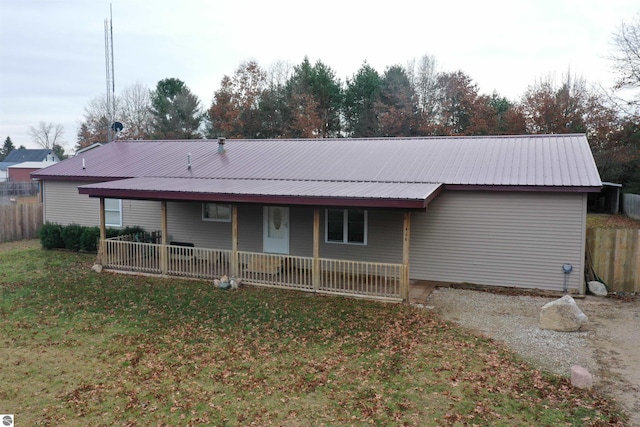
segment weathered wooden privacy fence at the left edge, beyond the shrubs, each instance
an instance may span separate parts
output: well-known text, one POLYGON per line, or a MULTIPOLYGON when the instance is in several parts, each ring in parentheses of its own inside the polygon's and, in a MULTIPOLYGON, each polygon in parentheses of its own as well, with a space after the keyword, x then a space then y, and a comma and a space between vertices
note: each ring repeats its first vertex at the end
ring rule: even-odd
POLYGON ((0 205, 0 242, 34 239, 42 226, 42 203, 0 205))

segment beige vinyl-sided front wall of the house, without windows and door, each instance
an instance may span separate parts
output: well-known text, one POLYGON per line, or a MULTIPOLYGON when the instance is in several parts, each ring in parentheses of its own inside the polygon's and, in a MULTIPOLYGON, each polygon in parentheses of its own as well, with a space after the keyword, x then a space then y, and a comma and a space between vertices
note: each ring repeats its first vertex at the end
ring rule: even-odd
MULTIPOLYGON (((99 201, 78 194, 78 183, 47 181, 44 219, 94 226, 99 201)), ((587 197, 584 193, 444 191, 425 211, 411 214, 412 279, 561 291, 583 289, 587 197)), ((160 229, 160 202, 123 200, 123 225, 160 229)), ((238 207, 238 248, 262 252, 261 205, 238 207)), ((313 208, 293 206, 290 254, 313 254, 313 208)), ((230 222, 202 220, 200 202, 167 204, 168 240, 231 249, 230 222)), ((402 262, 403 211, 368 211, 367 245, 326 243, 320 209, 320 256, 402 262)))

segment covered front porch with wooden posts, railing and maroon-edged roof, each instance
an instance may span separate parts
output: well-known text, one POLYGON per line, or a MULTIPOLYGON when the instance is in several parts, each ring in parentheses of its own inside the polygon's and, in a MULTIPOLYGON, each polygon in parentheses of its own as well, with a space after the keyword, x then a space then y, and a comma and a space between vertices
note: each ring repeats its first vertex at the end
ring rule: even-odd
MULTIPOLYGON (((183 180, 181 180, 183 181, 183 180)), ((172 183, 175 185, 175 183, 172 183)), ((227 190, 229 183, 225 183, 227 190)), ((184 194, 175 193, 157 188, 158 183, 145 184, 135 180, 123 180, 109 183, 93 184, 80 187, 80 193, 89 194, 100 198, 100 246, 98 262, 104 268, 144 274, 157 274, 162 276, 190 277, 197 279, 215 279, 222 275, 228 275, 240 279, 242 283, 270 286, 286 289, 296 289, 314 293, 345 295, 367 299, 385 301, 409 301, 409 271, 410 271, 410 236, 411 236, 411 211, 416 208, 423 209, 426 204, 439 192, 439 185, 416 186, 419 197, 407 199, 406 196, 398 198, 389 197, 359 197, 357 199, 344 197, 304 198, 287 195, 256 195, 238 194, 236 190, 232 194, 218 193, 184 194), (128 182, 127 182, 128 181, 128 182), (134 182, 132 182, 134 181, 134 182), (124 182, 124 185, 122 184, 124 182), (153 186, 153 188, 139 188, 141 184, 153 186), (136 188, 133 188, 136 187, 136 188), (123 197, 124 196, 124 197, 123 197), (158 200, 159 196, 163 199, 158 200), (135 200, 157 200, 160 202, 160 230, 159 239, 153 242, 144 242, 140 239, 106 238, 105 230, 105 198, 130 198, 135 200), (199 245, 185 244, 184 242, 169 241, 167 202, 226 202, 230 206, 230 231, 231 248, 217 249, 199 247, 199 245), (244 203, 243 203, 244 202, 244 203), (238 230, 242 225, 238 221, 238 206, 306 206, 313 212, 311 239, 311 256, 299 256, 298 254, 269 253, 264 250, 240 250, 238 230), (327 242, 321 238, 321 207, 352 207, 358 208, 385 208, 396 212, 395 217, 402 218, 402 234, 398 221, 395 221, 397 232, 395 239, 402 240, 400 247, 394 252, 397 262, 371 262, 362 259, 344 259, 335 257, 333 253, 321 256, 321 244, 327 242), (399 215, 399 216, 398 216, 399 215)), ((162 183, 160 183, 162 187, 162 183)), ((393 189, 379 186, 375 191, 386 193, 393 189)), ((369 186, 371 188, 371 186, 369 186)), ((273 191, 273 187, 270 188, 273 191)), ((284 190, 283 190, 284 191, 284 190)), ((286 191, 290 191, 287 189, 286 191)), ((370 190, 369 190, 370 191, 370 190)), ((288 208, 287 208, 288 209, 288 208)), ((156 211, 157 212, 157 211, 156 211)), ((172 211, 173 212, 173 211, 172 211)), ((308 217, 310 218, 310 217, 308 217)), ((173 222, 172 222, 173 223, 173 222)), ((244 222, 243 222, 243 225, 244 222)), ((311 224, 309 224, 311 225, 311 224)), ((246 227, 246 225, 245 225, 246 227)), ((326 227, 326 224, 325 224, 326 227)), ((308 230, 308 228, 307 228, 308 230)), ((311 230, 310 230, 311 231, 311 230)), ((325 236, 326 238, 326 236, 325 236)), ((397 240, 396 240, 397 241, 397 240)), ((228 241, 227 241, 228 242, 228 241)), ((400 244, 399 241, 397 241, 400 244)), ((343 245, 344 247, 344 245, 343 245)), ((360 246, 366 248, 365 246, 360 246)), ((352 253, 360 250, 358 247, 350 249, 352 253)), ((345 254, 344 252, 342 253, 345 254)), ((349 255, 349 254, 347 254, 349 255)))

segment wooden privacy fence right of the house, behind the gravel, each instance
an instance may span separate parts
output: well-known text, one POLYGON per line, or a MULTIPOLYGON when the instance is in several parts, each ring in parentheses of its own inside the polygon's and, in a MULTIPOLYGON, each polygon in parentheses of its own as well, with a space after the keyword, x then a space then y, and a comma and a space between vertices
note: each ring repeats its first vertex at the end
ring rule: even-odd
POLYGON ((640 292, 640 229, 590 228, 587 251, 609 291, 640 292))

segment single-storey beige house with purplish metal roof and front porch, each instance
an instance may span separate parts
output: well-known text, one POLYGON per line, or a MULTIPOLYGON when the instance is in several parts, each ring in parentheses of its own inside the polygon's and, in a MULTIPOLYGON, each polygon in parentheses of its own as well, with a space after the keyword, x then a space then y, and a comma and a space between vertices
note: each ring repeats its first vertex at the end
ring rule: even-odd
POLYGON ((578 134, 118 141, 32 177, 45 221, 162 230, 136 249, 146 266, 103 232, 115 269, 178 274, 171 254, 219 251, 200 258, 264 284, 296 265, 280 285, 358 294, 389 267, 399 299, 409 280, 584 293, 587 194, 602 186, 578 134))

